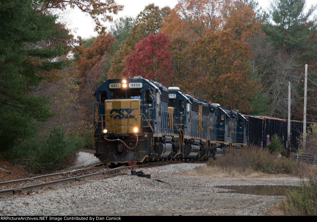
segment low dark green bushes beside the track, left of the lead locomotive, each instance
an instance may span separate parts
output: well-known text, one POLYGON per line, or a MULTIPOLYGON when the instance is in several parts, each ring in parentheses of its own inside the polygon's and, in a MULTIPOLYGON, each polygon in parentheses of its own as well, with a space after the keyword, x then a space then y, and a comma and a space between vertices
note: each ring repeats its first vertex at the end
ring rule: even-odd
POLYGON ((73 164, 78 150, 82 147, 85 147, 83 138, 65 134, 64 129, 54 127, 49 136, 20 141, 8 152, 1 153, 1 157, 26 166, 31 172, 44 173, 73 164))

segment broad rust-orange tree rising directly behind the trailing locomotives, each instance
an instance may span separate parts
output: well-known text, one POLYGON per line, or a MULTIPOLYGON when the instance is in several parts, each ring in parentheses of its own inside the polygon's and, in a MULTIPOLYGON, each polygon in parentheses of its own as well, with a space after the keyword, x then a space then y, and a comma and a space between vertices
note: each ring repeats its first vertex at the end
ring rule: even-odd
POLYGON ((224 107, 252 109, 250 100, 260 85, 252 77, 247 43, 234 40, 232 32, 217 31, 195 40, 190 56, 190 81, 183 88, 224 107))

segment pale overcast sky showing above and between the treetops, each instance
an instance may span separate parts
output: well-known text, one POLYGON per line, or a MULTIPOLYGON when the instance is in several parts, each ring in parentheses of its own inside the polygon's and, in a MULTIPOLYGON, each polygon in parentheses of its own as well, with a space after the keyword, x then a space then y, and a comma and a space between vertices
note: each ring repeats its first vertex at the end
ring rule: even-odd
MULTIPOLYGON (((116 3, 124 5, 124 9, 118 13, 118 15, 113 15, 113 20, 118 19, 120 17, 124 16, 133 16, 136 17, 140 11, 144 9, 144 7, 150 3, 154 3, 155 5, 158 5, 160 8, 164 6, 170 6, 171 8, 174 8, 177 4, 177 0, 138 0, 138 1, 131 1, 131 0, 116 0, 116 3)), ((259 1, 259 6, 261 6, 263 9, 267 9, 269 6, 269 3, 271 1, 268 0, 262 0, 259 1)), ((316 0, 307 0, 306 4, 307 6, 311 6, 312 3, 316 3, 316 0)), ((88 38, 91 36, 97 36, 98 34, 94 32, 95 23, 91 19, 89 15, 86 15, 85 13, 81 12, 78 9, 69 10, 64 15, 61 15, 63 17, 63 21, 65 21, 68 24, 68 28, 73 31, 73 34, 75 36, 81 36, 83 38, 88 38)), ((108 28, 110 28, 111 23, 105 24, 108 28)))

